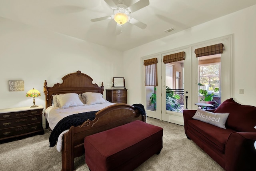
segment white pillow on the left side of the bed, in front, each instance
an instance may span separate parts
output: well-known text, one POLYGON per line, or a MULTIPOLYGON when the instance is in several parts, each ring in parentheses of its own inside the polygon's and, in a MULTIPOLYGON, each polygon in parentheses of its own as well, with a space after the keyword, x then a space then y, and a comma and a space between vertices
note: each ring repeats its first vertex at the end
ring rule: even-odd
POLYGON ((56 96, 60 109, 84 105, 77 93, 58 94, 56 96))

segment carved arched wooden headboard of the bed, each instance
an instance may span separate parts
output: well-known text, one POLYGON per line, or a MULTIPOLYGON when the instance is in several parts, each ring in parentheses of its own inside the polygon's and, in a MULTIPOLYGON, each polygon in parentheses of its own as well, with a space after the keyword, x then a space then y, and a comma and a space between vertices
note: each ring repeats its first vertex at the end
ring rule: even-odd
POLYGON ((96 92, 102 93, 104 91, 103 82, 101 87, 97 84, 92 84, 92 78, 90 76, 81 73, 80 71, 70 73, 62 78, 63 82, 56 83, 53 87, 47 86, 47 81, 44 81, 44 94, 45 94, 45 107, 52 105, 52 95, 65 94, 65 93, 84 93, 84 92, 96 92))

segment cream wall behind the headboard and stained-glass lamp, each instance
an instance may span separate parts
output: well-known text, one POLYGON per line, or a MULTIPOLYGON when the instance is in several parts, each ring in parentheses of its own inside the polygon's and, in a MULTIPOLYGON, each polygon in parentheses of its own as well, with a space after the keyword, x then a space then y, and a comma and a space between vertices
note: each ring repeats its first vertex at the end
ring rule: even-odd
MULTIPOLYGON (((33 87, 45 107, 44 80, 52 87, 61 78, 80 70, 104 88, 114 76, 123 76, 123 52, 69 36, 0 18, 0 109, 31 106, 26 92, 33 87), (24 80, 24 91, 8 91, 8 80, 24 80)), ((105 91, 104 91, 105 97, 105 91)))

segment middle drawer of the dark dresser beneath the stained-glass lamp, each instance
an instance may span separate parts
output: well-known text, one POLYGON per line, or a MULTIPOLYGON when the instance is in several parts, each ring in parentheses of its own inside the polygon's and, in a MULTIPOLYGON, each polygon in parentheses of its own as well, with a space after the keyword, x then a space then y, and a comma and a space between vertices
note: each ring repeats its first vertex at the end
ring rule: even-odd
POLYGON ((22 118, 4 119, 0 120, 0 129, 9 127, 18 127, 22 125, 28 125, 31 123, 38 123, 41 121, 41 115, 31 115, 22 118))

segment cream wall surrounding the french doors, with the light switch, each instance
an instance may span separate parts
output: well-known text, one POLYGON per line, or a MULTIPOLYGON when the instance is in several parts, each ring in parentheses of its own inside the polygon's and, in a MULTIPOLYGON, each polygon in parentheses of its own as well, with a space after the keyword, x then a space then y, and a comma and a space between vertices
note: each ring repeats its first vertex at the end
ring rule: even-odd
POLYGON ((140 102, 140 58, 234 34, 234 99, 256 105, 256 5, 124 52, 128 103, 140 102), (244 94, 239 94, 244 89, 244 94))

